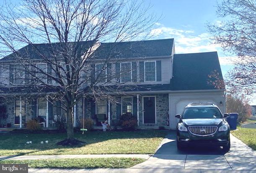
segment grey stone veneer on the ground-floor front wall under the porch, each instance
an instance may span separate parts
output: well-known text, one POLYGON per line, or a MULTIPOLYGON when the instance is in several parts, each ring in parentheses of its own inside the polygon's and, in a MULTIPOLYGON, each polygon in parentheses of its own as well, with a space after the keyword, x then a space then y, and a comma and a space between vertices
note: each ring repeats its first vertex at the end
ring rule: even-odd
MULTIPOLYGON (((139 125, 141 127, 143 126, 154 126, 154 127, 158 127, 158 126, 167 126, 167 120, 168 120, 168 112, 169 112, 169 101, 168 101, 168 94, 146 94, 145 96, 155 96, 155 101, 156 101, 156 124, 143 124, 143 115, 142 115, 142 97, 143 95, 140 94, 139 96, 139 125)), ((133 96, 134 97, 134 96, 133 96)), ((135 96, 136 97, 136 96, 135 96)), ((134 98, 135 98, 134 97, 134 98)), ((136 110, 137 110, 137 97, 136 100, 134 100, 135 103, 133 106, 135 106, 136 110)), ((80 126, 80 120, 81 118, 83 118, 83 112, 85 112, 85 117, 93 117, 93 115, 91 114, 91 105, 92 102, 94 102, 92 99, 86 99, 85 98, 85 105, 83 105, 83 99, 81 99, 78 104, 76 105, 76 113, 77 113, 77 123, 76 126, 79 127, 80 126)), ((111 120, 118 120, 120 114, 117 113, 117 105, 116 104, 121 104, 121 97, 116 97, 116 102, 111 103, 111 110, 110 110, 110 114, 111 114, 111 120)), ((12 127, 18 127, 18 125, 14 125, 14 100, 10 100, 9 104, 7 105, 7 114, 8 114, 8 118, 7 118, 7 123, 11 123, 12 127)), ((31 120, 32 118, 35 117, 36 112, 33 111, 32 109, 32 99, 28 99, 27 100, 27 104, 26 104, 26 122, 28 120, 31 120)), ((95 109, 95 107, 93 107, 93 109, 95 109)), ((133 109, 134 110, 134 109, 133 109)), ((52 117, 54 117, 56 113, 56 107, 52 108, 52 117)), ((106 112, 108 114, 108 110, 106 112)), ((137 112, 134 112, 134 116, 137 117, 137 112)), ((49 127, 52 127, 52 120, 49 120, 49 127)))

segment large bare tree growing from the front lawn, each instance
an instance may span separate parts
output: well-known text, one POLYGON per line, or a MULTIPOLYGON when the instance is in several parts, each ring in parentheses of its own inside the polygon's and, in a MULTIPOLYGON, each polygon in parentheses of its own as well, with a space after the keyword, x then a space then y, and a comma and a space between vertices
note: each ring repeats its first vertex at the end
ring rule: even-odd
POLYGON ((21 5, 5 3, 2 7, 1 53, 11 53, 8 57, 17 64, 14 75, 25 78, 24 83, 16 80, 15 85, 31 86, 31 91, 34 88, 34 92, 47 95, 49 101, 64 103, 67 140, 74 140, 74 105, 83 95, 106 96, 103 88, 116 77, 113 73, 106 78, 101 75, 118 54, 115 46, 101 59, 103 66, 96 71, 91 66, 98 61, 95 53, 101 42, 149 36, 156 18, 148 14, 150 6, 143 4, 136 0, 23 0, 21 5))

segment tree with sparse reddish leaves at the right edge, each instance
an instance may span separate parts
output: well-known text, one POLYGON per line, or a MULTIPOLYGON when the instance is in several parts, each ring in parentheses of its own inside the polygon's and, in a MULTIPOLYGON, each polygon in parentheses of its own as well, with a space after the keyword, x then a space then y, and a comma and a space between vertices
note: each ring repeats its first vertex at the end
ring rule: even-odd
MULTIPOLYGON (((230 92, 256 93, 256 1, 223 0, 217 4, 220 23, 209 24, 215 43, 231 56, 235 68, 225 80, 230 92)), ((221 84, 216 83, 216 84, 221 84)))

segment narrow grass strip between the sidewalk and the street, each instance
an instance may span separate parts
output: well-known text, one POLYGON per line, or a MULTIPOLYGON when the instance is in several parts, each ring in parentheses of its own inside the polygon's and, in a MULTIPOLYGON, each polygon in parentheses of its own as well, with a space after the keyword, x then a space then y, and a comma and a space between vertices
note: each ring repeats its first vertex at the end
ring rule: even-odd
POLYGON ((1 164, 28 164, 29 168, 130 168, 144 162, 141 158, 83 158, 48 160, 2 160, 1 164))

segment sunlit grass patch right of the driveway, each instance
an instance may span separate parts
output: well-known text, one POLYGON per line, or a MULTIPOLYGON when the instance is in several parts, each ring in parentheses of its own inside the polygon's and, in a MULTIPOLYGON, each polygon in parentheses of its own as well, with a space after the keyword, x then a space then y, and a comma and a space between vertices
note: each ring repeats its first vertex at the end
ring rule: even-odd
POLYGON ((232 135, 243 141, 253 150, 256 150, 256 129, 237 128, 238 130, 231 131, 232 135))

